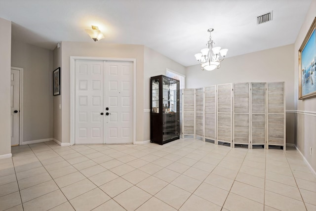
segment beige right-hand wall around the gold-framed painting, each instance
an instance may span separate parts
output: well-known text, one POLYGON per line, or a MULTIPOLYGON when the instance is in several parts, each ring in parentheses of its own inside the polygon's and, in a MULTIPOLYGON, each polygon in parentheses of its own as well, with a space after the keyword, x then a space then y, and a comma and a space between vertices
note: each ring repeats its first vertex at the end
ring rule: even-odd
POLYGON ((298 85, 299 85, 299 64, 298 64, 298 49, 311 24, 316 16, 316 0, 313 0, 310 9, 306 15, 305 22, 294 43, 294 102, 295 110, 303 111, 296 114, 295 125, 295 144, 302 152, 306 160, 316 171, 316 97, 298 100, 298 85), (304 114, 304 112, 312 112, 312 114, 304 114), (314 115, 313 115, 314 114, 314 115), (310 155, 310 147, 312 147, 312 155, 310 155))

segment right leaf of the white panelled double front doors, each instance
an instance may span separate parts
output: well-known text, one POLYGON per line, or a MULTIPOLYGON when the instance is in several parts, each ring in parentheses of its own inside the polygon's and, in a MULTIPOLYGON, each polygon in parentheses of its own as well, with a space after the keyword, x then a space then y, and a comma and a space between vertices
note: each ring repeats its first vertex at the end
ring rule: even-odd
POLYGON ((106 139, 133 143, 133 63, 106 62, 106 139))

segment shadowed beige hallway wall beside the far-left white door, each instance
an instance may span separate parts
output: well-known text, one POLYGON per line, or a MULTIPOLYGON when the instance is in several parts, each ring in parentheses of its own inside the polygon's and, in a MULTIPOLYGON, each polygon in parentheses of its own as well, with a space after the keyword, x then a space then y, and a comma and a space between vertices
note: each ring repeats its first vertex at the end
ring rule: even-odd
POLYGON ((12 40, 11 66, 23 68, 23 142, 53 137, 53 52, 12 40))

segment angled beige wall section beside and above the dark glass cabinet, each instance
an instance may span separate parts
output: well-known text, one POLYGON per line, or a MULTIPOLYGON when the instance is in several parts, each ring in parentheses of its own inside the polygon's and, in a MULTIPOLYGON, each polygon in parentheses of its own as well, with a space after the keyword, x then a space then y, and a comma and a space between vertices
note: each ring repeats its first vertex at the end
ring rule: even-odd
POLYGON ((144 51, 144 140, 150 140, 150 77, 166 75, 166 69, 185 75, 185 67, 146 47, 144 51))

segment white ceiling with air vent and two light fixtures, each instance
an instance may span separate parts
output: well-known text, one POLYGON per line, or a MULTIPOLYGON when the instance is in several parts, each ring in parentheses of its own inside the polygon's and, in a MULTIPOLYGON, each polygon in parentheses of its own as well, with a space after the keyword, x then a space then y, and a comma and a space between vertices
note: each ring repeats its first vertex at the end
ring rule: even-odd
MULTIPOLYGON (((84 31, 99 26, 99 42, 143 44, 184 65, 197 64, 208 28, 227 57, 294 43, 311 0, 0 0, 12 37, 54 49, 57 42, 93 42, 84 31), (273 21, 256 17, 273 10, 273 21)), ((98 42, 97 42, 98 43, 98 42)), ((97 44, 96 43, 96 44, 97 44)), ((277 56, 277 55, 276 55, 277 56)))

